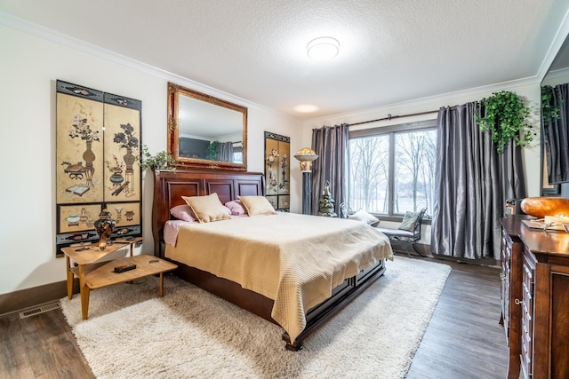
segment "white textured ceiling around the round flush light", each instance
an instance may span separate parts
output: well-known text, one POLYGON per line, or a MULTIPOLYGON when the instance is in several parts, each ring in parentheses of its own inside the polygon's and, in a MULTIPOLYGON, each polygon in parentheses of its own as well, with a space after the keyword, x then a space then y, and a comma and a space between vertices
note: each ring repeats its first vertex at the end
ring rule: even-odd
POLYGON ((299 119, 537 77, 566 0, 2 0, 11 14, 299 119), (313 61, 317 36, 341 43, 313 61), (301 114, 299 105, 318 107, 301 114))

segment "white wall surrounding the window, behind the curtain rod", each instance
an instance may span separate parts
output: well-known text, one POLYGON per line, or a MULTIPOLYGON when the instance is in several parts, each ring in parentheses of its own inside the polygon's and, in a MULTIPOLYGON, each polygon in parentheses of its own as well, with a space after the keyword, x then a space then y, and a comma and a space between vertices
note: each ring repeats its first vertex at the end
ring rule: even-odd
MULTIPOLYGON (((465 73, 468 75, 468 72, 465 73)), ((381 87, 380 87, 381 88, 381 87)), ((406 103, 394 104, 391 106, 377 107, 367 109, 361 112, 354 112, 349 114, 336 114, 325 118, 319 118, 304 122, 302 127, 302 139, 307 141, 309 146, 312 136, 312 130, 321 128, 323 125, 337 125, 342 122, 356 123, 370 120, 377 120, 391 116, 404 115, 404 114, 417 114, 438 110, 440 107, 455 106, 465 104, 469 101, 476 101, 490 96, 493 92, 507 90, 516 92, 522 99, 525 100, 526 105, 530 107, 531 115, 529 123, 534 126, 535 131, 538 133, 530 146, 524 148, 524 165, 525 165, 525 188, 528 196, 540 195, 540 107, 541 107, 541 90, 540 83, 537 79, 519 81, 516 83, 507 83, 486 87, 484 89, 457 92, 454 94, 447 94, 430 99, 420 99, 406 103)), ((381 90, 379 90, 381 91, 381 90)), ((356 125, 350 127, 350 130, 359 130, 367 128, 376 128, 382 126, 395 125, 405 122, 417 122, 422 120, 436 119, 437 113, 423 114, 411 117, 393 118, 392 120, 382 122, 371 122, 364 125, 356 125)), ((381 225, 386 227, 397 227, 398 223, 389 223, 382 221, 381 225)), ((421 243, 430 243, 430 227, 423 226, 421 229, 421 243)))

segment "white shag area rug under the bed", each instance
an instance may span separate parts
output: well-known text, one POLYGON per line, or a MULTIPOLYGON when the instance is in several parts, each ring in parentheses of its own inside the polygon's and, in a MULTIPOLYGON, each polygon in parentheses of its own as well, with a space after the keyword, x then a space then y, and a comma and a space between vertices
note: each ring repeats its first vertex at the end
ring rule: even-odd
POLYGON ((61 299, 98 378, 404 378, 451 267, 395 257, 384 276, 287 351, 283 329, 173 276, 61 299))

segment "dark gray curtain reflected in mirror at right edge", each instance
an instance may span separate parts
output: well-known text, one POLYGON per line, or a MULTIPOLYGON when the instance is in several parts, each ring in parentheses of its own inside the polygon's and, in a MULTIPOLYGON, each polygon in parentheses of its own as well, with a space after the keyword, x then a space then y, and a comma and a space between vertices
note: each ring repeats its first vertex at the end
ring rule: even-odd
POLYGON ((543 148, 549 183, 569 182, 569 83, 553 88, 551 106, 559 118, 543 125, 543 148))

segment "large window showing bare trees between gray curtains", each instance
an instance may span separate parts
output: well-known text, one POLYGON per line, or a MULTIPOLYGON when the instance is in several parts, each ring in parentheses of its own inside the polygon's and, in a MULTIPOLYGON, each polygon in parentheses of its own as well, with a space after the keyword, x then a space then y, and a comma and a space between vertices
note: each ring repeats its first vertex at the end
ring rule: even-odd
POLYGON ((401 215, 434 204, 436 122, 350 131, 349 205, 401 215))

